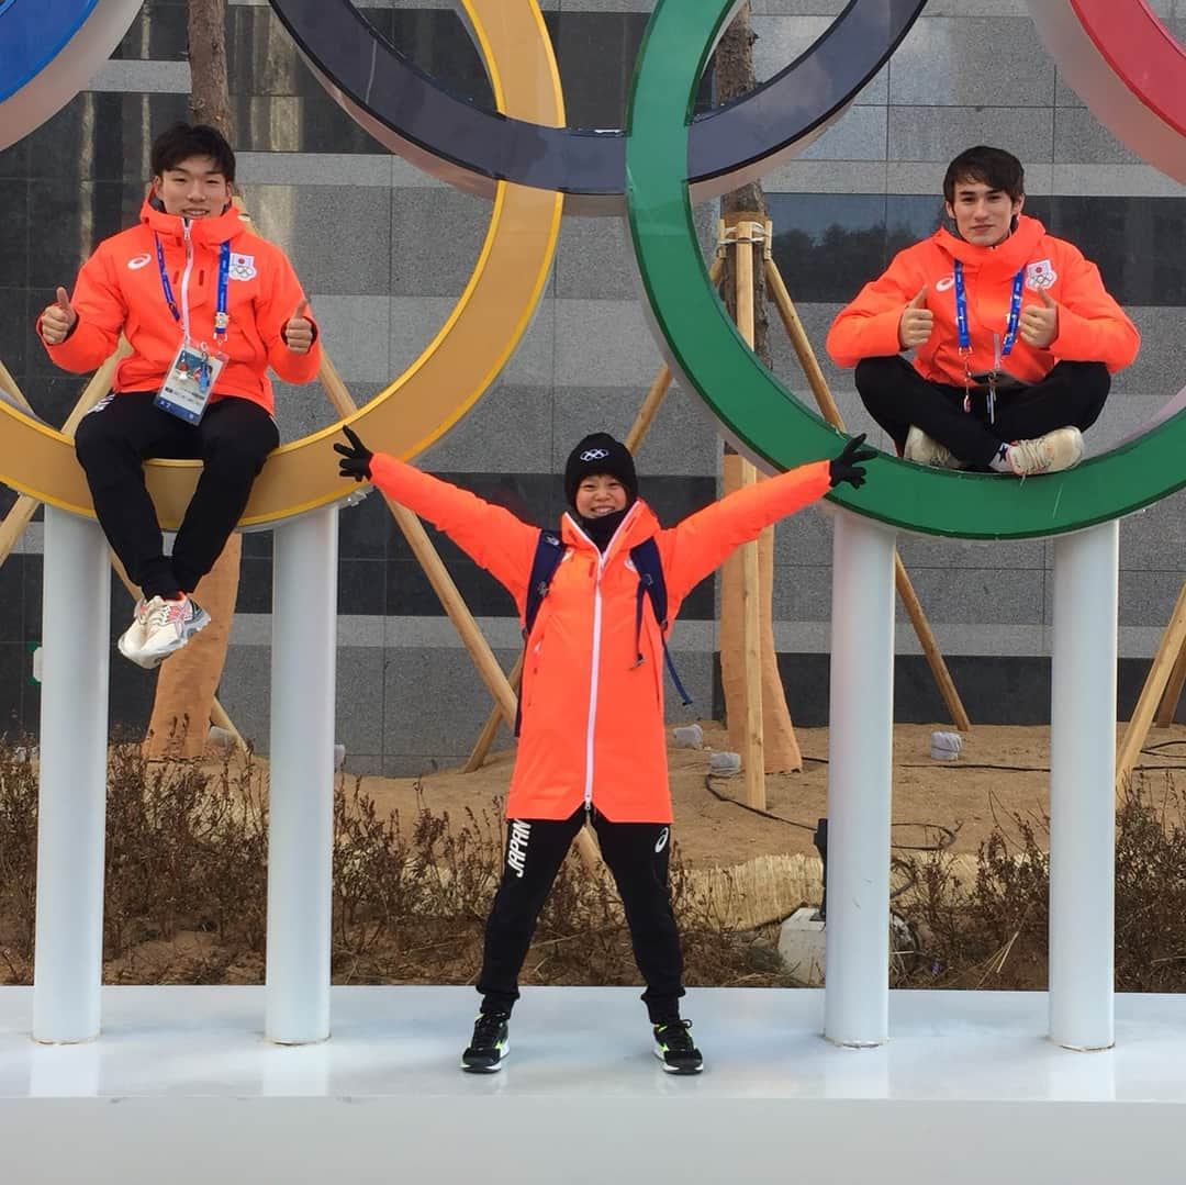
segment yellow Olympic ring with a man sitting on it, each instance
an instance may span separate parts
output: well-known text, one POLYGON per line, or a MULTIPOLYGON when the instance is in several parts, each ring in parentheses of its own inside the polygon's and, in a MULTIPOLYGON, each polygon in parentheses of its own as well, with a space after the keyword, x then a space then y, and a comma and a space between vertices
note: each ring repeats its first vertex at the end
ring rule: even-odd
MULTIPOLYGON (((463 0, 500 112, 565 126, 551 42, 536 0, 463 0)), ((413 457, 455 423, 506 363, 543 292, 563 197, 499 183, 478 263, 448 320, 420 357, 349 422, 384 451, 413 457)), ((260 474, 241 527, 292 518, 355 489, 337 474, 334 423, 278 448, 260 474)), ((199 463, 152 460, 145 478, 162 527, 176 528, 199 463)), ((40 502, 94 518, 74 441, 0 400, 0 476, 40 502)))

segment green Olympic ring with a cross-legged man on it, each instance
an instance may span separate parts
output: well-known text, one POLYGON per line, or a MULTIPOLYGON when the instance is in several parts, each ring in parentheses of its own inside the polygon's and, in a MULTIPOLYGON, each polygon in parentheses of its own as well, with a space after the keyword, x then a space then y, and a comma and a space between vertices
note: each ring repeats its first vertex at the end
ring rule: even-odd
MULTIPOLYGON (((655 329, 672 369, 740 452, 771 472, 836 453, 836 429, 754 357, 708 282, 688 193, 688 126, 697 83, 734 0, 658 0, 646 26, 626 125, 626 215, 655 329)), ((1029 539, 1131 514, 1186 485, 1186 412, 1065 473, 1018 482, 924 469, 890 455, 860 490, 829 497, 905 530, 1029 539)))

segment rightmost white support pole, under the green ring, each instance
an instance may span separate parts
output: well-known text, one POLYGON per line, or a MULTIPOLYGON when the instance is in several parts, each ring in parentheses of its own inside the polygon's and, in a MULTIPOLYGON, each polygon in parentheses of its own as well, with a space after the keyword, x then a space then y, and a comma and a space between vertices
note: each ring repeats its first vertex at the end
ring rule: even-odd
POLYGON ((1050 1036, 1108 1049, 1112 1025, 1120 525, 1054 540, 1050 730, 1050 1036))

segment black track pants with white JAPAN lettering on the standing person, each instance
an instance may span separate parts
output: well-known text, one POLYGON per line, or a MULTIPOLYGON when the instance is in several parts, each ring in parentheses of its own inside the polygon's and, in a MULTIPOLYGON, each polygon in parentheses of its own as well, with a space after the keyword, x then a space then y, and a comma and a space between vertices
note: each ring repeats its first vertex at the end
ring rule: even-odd
MULTIPOLYGON (((668 888, 671 829, 667 823, 613 823, 597 810, 592 818, 621 894, 635 962, 646 981, 646 1009, 655 1022, 675 1019, 683 995, 683 956, 668 888)), ((518 999, 518 973, 536 919, 584 822, 584 807, 568 818, 508 821, 503 879, 486 922, 478 976, 483 1011, 510 1012, 518 999)))

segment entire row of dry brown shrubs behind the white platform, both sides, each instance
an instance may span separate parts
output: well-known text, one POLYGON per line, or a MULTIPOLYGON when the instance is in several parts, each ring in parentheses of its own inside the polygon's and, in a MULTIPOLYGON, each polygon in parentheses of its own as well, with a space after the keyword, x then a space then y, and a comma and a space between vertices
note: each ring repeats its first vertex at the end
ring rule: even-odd
MULTIPOLYGON (((0 741, 0 982, 32 981, 37 766, 31 744, 0 741)), ((1169 775, 1137 781, 1117 813, 1116 987, 1186 990, 1186 801, 1169 775)), ((496 804, 460 820, 421 802, 381 815, 339 777, 333 811, 336 982, 468 983, 502 871, 496 804)), ((262 766, 228 756, 213 771, 110 750, 104 979, 259 983, 263 976, 267 789, 262 766)), ((942 854, 907 861, 913 893, 895 902, 917 945, 901 986, 1044 988, 1048 820, 1007 816, 961 880, 942 854)), ((737 934, 671 860, 689 985, 792 986, 777 924, 737 934)), ((572 854, 556 877, 523 968, 524 983, 638 983, 607 877, 572 854)))

